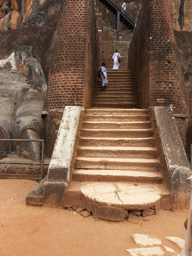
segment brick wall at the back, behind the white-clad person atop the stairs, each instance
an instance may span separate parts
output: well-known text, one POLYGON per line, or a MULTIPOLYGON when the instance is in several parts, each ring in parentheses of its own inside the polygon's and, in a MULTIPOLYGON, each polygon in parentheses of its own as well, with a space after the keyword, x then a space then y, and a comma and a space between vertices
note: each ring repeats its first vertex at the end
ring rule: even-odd
POLYGON ((133 31, 115 30, 104 23, 102 27, 102 61, 106 62, 106 68, 112 68, 112 55, 115 49, 118 49, 121 57, 119 69, 126 69, 128 65, 128 47, 133 31))

